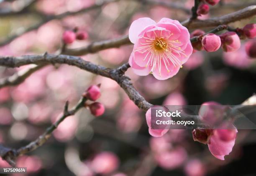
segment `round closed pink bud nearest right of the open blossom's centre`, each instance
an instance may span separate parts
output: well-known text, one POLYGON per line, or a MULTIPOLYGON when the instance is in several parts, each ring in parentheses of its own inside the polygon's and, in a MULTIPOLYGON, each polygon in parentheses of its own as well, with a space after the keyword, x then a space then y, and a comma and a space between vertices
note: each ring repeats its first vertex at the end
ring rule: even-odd
POLYGON ((221 40, 218 35, 213 33, 207 34, 202 38, 202 46, 208 52, 217 51, 220 48, 221 40))

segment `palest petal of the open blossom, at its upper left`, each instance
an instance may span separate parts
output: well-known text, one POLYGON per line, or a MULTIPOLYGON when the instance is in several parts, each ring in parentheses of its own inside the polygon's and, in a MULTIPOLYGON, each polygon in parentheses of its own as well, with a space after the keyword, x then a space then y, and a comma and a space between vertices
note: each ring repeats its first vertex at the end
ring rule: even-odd
POLYGON ((155 24, 156 22, 151 18, 139 18, 138 20, 133 21, 129 29, 129 39, 132 43, 136 43, 138 35, 142 32, 142 30, 149 25, 155 24))

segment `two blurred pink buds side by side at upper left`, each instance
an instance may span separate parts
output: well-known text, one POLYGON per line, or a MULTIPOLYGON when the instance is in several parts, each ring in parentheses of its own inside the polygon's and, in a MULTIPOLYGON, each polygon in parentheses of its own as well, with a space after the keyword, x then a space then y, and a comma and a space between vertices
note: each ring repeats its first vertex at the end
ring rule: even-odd
POLYGON ((88 33, 84 30, 66 30, 62 35, 62 40, 65 44, 73 43, 75 40, 86 40, 88 33))

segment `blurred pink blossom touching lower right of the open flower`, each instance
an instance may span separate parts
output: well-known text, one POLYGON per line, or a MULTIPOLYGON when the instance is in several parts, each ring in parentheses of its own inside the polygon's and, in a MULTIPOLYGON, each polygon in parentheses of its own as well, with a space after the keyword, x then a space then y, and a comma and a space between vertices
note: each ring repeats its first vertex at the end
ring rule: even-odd
POLYGON ((187 60, 187 62, 184 64, 184 67, 188 70, 194 70, 200 67, 200 65, 202 65, 203 62, 204 55, 202 54, 202 52, 193 53, 190 56, 189 60, 187 60))

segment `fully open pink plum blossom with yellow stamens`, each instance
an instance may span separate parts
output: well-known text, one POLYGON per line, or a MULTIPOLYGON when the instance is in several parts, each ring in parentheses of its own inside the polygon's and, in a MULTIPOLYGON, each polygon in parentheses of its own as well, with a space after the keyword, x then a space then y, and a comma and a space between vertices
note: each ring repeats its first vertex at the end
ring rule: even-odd
POLYGON ((159 80, 176 75, 193 50, 187 28, 169 18, 158 23, 150 18, 133 21, 129 39, 134 43, 129 58, 133 71, 137 75, 151 73, 159 80))

